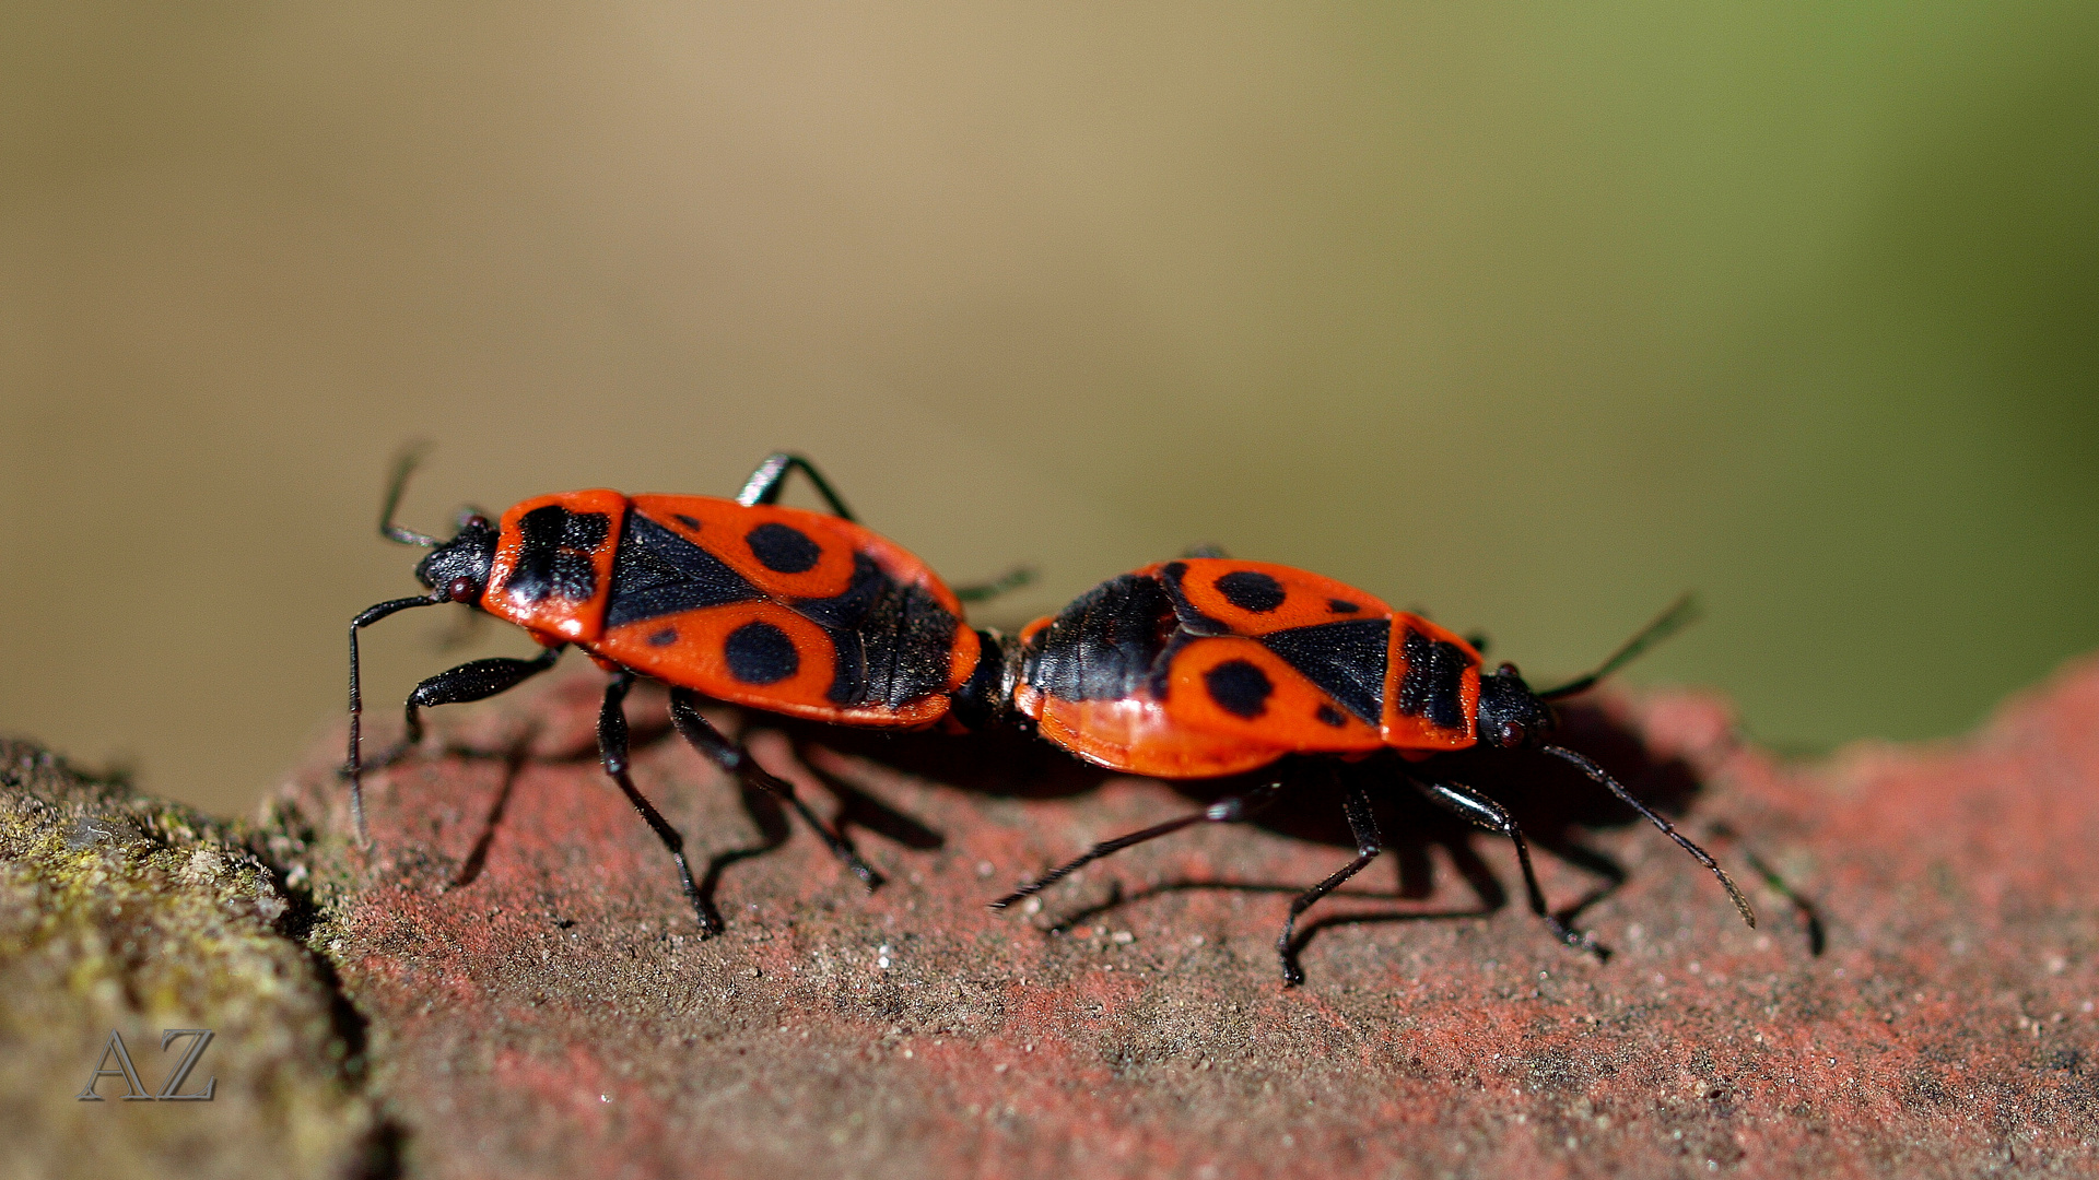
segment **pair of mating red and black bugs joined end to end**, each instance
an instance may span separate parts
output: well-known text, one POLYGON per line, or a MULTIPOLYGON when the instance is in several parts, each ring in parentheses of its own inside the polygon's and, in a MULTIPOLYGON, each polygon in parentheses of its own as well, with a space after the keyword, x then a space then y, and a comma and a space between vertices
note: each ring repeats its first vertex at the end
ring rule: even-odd
MULTIPOLYGON (((1293 771, 1201 813, 1096 844, 993 907, 1037 892, 1100 857, 1196 823, 1230 823, 1274 804, 1322 760, 1394 750, 1421 773, 1402 777, 1432 802, 1507 836, 1530 909, 1568 945, 1583 945, 1545 905, 1524 834, 1492 798, 1432 771, 1436 754, 1478 745, 1539 750, 1604 785, 1706 865, 1742 920, 1755 913, 1727 873, 1667 819, 1589 758, 1551 745, 1549 701, 1595 684, 1685 617, 1679 603, 1593 674, 1534 693, 1511 663, 1482 672, 1480 651, 1436 624, 1301 569, 1188 556, 1102 582, 1064 611, 999 636, 961 619, 966 598, 1016 584, 955 590, 900 546, 863 529, 808 460, 775 454, 735 500, 567 491, 539 496, 491 523, 460 519, 451 540, 395 525, 414 456, 395 468, 380 517, 388 540, 430 550, 416 567, 428 594, 395 598, 351 621, 351 810, 365 840, 357 632, 411 607, 464 603, 518 624, 537 659, 476 659, 430 676, 407 699, 407 731, 388 764, 422 739, 422 710, 479 701, 554 666, 579 647, 613 680, 598 716, 605 773, 678 867, 707 932, 720 922, 699 897, 678 831, 628 775, 626 695, 649 676, 670 684, 670 716, 693 747, 743 783, 789 804, 869 888, 882 878, 793 787, 766 773, 697 710, 701 699, 850 726, 1022 726, 1087 762, 1161 779, 1209 779, 1289 762, 1293 771), (800 470, 831 514, 781 508, 800 470)), ((1291 903, 1276 941, 1285 983, 1297 918, 1383 848, 1371 798, 1350 781, 1345 817, 1356 859, 1291 903)))

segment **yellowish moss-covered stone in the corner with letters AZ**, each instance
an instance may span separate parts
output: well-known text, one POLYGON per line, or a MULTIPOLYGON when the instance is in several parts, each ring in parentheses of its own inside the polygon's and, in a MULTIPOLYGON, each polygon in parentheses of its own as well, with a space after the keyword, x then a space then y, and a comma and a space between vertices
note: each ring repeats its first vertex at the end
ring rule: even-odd
MULTIPOLYGON (((239 825, 0 741, 0 1174, 355 1176, 390 1136, 357 1086, 357 1018, 283 930, 285 894, 239 825), (145 1094, 214 1037, 183 1094, 99 1079, 122 1035, 145 1094)), ((122 1069, 115 1056, 107 1069, 122 1069)))

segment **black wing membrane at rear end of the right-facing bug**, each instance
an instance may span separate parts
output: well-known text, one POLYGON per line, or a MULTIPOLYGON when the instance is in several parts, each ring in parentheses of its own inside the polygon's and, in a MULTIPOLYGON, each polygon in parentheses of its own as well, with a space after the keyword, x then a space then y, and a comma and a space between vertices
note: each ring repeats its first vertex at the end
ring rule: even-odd
MULTIPOLYGON (((1186 571, 1186 565, 1167 567, 1186 571)), ((1062 701, 1115 701, 1138 695, 1167 655, 1175 626, 1173 596, 1138 573, 1094 586, 1035 636, 1029 682, 1062 701)), ((1226 634, 1226 632, 1217 632, 1226 634)))

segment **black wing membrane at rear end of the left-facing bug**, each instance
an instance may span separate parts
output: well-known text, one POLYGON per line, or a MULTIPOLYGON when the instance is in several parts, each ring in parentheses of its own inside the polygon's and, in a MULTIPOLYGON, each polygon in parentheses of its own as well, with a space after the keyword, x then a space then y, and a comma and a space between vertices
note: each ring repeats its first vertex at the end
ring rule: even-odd
POLYGON ((900 584, 875 559, 852 554, 852 582, 833 598, 793 603, 838 651, 825 693, 835 705, 898 708, 947 687, 955 651, 951 615, 919 584, 900 584))

